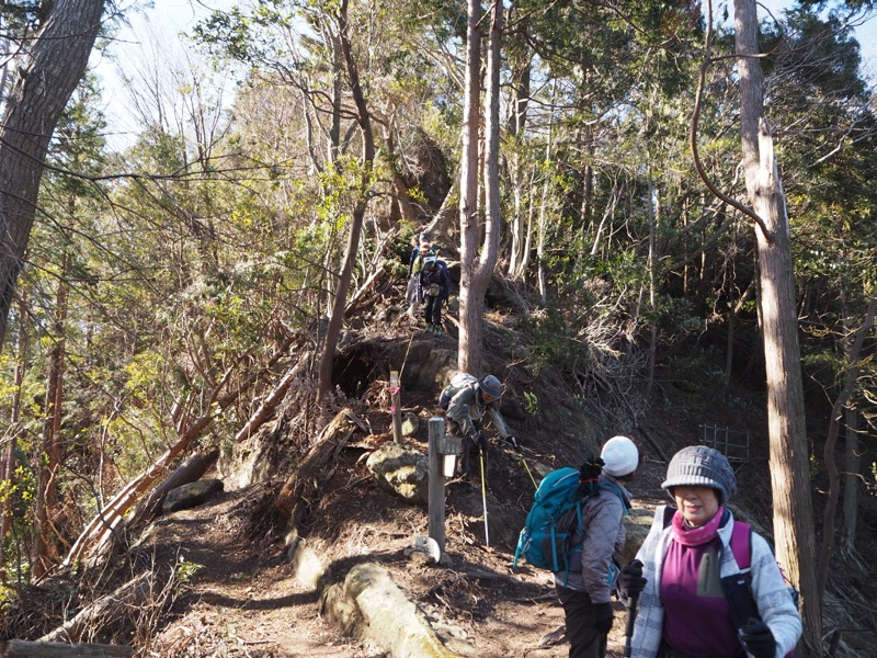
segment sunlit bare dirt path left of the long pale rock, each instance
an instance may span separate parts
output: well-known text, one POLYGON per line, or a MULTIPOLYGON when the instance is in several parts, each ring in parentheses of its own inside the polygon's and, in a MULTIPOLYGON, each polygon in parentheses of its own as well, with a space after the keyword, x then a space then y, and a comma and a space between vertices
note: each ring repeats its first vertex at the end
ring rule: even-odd
POLYGON ((320 616, 317 594, 298 585, 278 537, 253 527, 260 487, 226 492, 158 520, 146 545, 159 559, 189 563, 187 591, 157 644, 162 657, 314 658, 380 656, 342 637, 320 616))

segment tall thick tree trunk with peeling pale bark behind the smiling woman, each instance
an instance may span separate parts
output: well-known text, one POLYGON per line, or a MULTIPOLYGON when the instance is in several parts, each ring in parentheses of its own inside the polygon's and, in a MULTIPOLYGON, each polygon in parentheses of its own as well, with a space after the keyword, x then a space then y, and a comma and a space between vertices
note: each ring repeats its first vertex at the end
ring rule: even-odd
POLYGON ((821 656, 822 601, 816 570, 813 511, 804 413, 791 245, 783 188, 764 120, 763 73, 755 0, 734 0, 740 73, 740 124, 747 191, 755 215, 760 296, 767 381, 771 481, 776 555, 801 591, 804 639, 821 656))

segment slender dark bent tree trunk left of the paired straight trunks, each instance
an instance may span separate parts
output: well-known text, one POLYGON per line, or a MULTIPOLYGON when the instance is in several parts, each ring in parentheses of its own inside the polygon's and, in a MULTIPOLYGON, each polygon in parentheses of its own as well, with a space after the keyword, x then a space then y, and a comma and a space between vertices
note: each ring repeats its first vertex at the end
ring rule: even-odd
POLYGON ((334 363, 335 348, 338 347, 338 337, 341 334, 341 325, 344 321, 348 291, 353 276, 353 265, 356 262, 356 251, 360 248, 360 235, 363 230, 365 211, 368 207, 367 192, 372 184, 372 166, 375 161, 375 138, 372 132, 372 118, 368 114, 365 94, 360 86, 360 72, 353 59, 353 49, 351 48, 348 33, 348 0, 341 1, 338 12, 338 37, 341 43, 341 52, 344 55, 353 101, 356 104, 356 120, 363 134, 362 174, 350 223, 348 249, 338 277, 338 290, 332 302, 332 314, 329 317, 329 326, 326 330, 326 342, 323 343, 323 353, 320 360, 320 398, 332 387, 332 365, 334 363))

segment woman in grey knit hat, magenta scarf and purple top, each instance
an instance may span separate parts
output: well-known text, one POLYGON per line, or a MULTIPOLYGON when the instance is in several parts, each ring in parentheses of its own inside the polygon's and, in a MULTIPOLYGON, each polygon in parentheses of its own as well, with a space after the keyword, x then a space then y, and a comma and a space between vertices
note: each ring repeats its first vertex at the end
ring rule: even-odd
POLYGON ((791 651, 801 619, 771 546, 725 507, 737 490, 727 457, 705 445, 684 447, 661 487, 677 509, 656 510, 637 559, 619 577, 623 594, 639 598, 633 656, 778 658, 791 651))

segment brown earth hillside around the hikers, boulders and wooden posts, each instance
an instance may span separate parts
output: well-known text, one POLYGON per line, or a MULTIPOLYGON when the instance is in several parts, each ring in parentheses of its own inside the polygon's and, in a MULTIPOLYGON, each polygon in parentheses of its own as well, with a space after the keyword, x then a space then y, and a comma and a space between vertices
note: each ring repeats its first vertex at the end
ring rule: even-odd
MULTIPOLYGON (((369 642, 344 637, 331 623, 329 617, 335 615, 320 591, 296 577, 287 552, 287 517, 276 506, 324 420, 342 408, 355 420, 349 436, 333 449, 307 496, 296 501, 296 535, 326 565, 321 591, 343 582, 353 566, 377 563, 430 619, 442 642, 459 655, 567 655, 567 647, 558 643, 563 616, 550 577, 526 565, 512 567, 515 541, 539 474, 578 465, 613 434, 634 436, 645 456, 630 487, 637 509, 630 520, 628 552, 637 543, 636 524, 648 524, 654 504, 667 500, 660 489, 665 458, 683 445, 702 442, 704 427, 710 438, 725 436, 725 429, 734 442, 748 435, 749 453, 733 454, 740 457, 740 492, 733 507, 758 526, 771 527, 763 392, 731 386, 719 395, 709 374, 717 368, 686 348, 677 354, 661 354, 651 400, 645 405, 636 393, 641 382, 634 381, 629 389, 619 386, 628 381, 622 356, 614 362, 623 373, 615 381, 608 378, 608 358, 600 367, 580 368, 538 361, 533 355, 539 353, 539 345, 522 328, 520 316, 493 310, 486 318, 486 372, 508 385, 502 409, 525 452, 522 458, 493 433, 483 489, 480 481, 475 488, 458 480, 448 484, 446 563, 426 566, 412 558, 414 537, 428 534, 425 506, 407 502, 380 486, 365 462, 392 440, 391 371, 401 372, 402 411, 419 421, 405 443, 426 452, 426 421, 441 415, 435 400, 456 364, 457 332, 452 309, 445 336, 425 334, 419 318, 391 304, 401 297, 399 288, 392 281, 375 286, 351 317, 335 364, 339 392, 326 408, 307 411, 311 392, 305 384, 292 390, 259 434, 237 446, 220 463, 220 473, 212 474, 226 479, 224 495, 206 506, 161 518, 138 537, 125 559, 116 560, 116 581, 144 565, 151 565, 153 572, 161 572, 161 565, 174 565, 185 581, 127 625, 95 623, 94 639, 134 640, 144 648, 143 656, 386 655, 369 642), (240 463, 254 453, 266 465, 259 481, 242 476, 240 469, 240 463)), ((816 405, 811 409, 816 412, 810 431, 818 436, 825 419, 816 405)), ((816 477, 818 483, 820 474, 816 477)), ((824 496, 819 488, 815 501, 821 510, 824 496)), ((869 507, 864 518, 874 519, 873 500, 865 503, 869 507)), ((874 527, 863 522, 861 533, 862 545, 869 545, 874 527)), ((868 649, 863 647, 877 627, 873 605, 868 608, 877 588, 864 577, 864 569, 841 558, 835 563, 832 590, 843 591, 846 599, 839 608, 856 613, 841 622, 836 611, 831 612, 834 621, 830 624, 848 624, 844 627, 854 631, 844 634, 838 655, 865 656, 868 649)), ((41 599, 36 595, 34 602, 41 599)), ((38 637, 65 614, 69 613, 48 606, 37 619, 25 606, 12 620, 14 635, 38 637)), ((611 655, 622 656, 620 605, 611 639, 611 655)))

